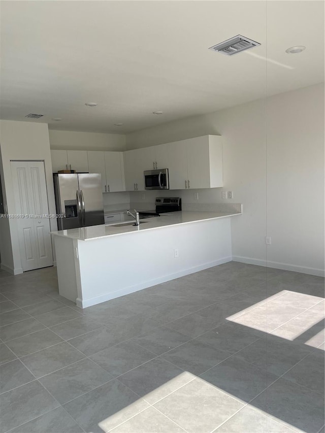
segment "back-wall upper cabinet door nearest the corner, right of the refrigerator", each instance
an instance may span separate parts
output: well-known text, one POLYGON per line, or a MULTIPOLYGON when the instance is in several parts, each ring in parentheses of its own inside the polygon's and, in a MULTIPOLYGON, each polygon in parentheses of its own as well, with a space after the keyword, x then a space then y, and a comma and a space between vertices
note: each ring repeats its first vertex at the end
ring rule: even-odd
POLYGON ((125 191, 122 152, 104 152, 107 192, 125 191))

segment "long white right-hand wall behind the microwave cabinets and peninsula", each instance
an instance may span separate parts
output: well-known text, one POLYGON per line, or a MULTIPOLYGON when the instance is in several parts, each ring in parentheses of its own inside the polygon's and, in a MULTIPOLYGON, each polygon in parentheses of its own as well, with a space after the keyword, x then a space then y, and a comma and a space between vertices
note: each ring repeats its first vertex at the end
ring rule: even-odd
MULTIPOLYGON (((318 84, 126 136, 127 149, 185 138, 223 137, 224 187, 198 190, 199 203, 242 203, 232 219, 238 260, 300 272, 324 270, 324 86, 318 84), (200 192, 201 191, 201 192, 200 192), (265 236, 272 245, 266 247, 265 236)), ((173 191, 187 203, 193 191, 173 191)), ((145 193, 145 200, 151 195, 145 193)), ((140 201, 131 192, 131 202, 140 201)))

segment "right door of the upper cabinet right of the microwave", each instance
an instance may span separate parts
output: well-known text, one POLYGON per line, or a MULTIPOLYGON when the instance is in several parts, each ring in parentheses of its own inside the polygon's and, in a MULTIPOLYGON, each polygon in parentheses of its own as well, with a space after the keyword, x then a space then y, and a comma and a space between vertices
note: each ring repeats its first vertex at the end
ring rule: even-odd
POLYGON ((209 136, 186 141, 187 187, 210 188, 209 136))

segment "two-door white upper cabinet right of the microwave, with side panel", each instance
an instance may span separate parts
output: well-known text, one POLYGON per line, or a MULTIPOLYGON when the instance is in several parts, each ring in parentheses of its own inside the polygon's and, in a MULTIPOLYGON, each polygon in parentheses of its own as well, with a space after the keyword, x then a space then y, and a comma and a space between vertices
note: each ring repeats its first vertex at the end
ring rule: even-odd
POLYGON ((168 144, 170 189, 223 186, 220 136, 203 136, 168 144))

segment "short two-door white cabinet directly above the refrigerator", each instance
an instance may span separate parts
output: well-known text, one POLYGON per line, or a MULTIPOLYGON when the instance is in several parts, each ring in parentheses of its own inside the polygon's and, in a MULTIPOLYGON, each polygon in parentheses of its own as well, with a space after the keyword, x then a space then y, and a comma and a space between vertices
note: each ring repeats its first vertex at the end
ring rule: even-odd
POLYGON ((77 173, 88 172, 86 150, 51 150, 52 171, 76 170, 77 173))

